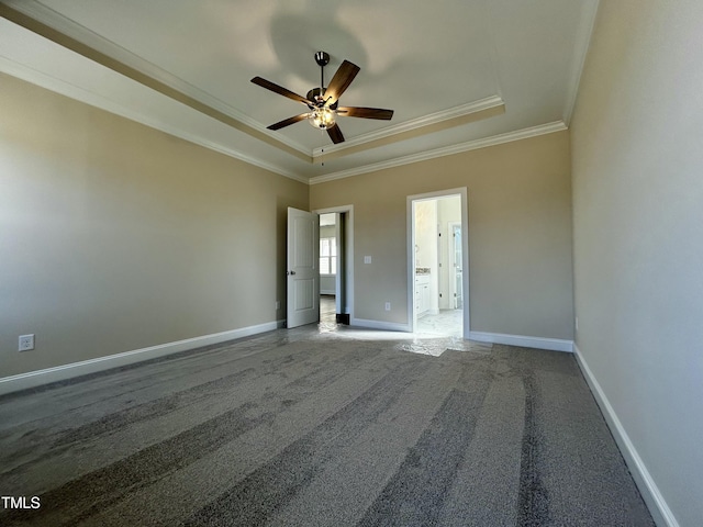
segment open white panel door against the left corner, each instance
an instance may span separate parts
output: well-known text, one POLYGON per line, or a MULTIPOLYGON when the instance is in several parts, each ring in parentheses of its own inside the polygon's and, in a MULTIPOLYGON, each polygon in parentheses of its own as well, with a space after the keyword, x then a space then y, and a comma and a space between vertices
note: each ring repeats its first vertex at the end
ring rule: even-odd
POLYGON ((317 214, 288 208, 287 326, 320 319, 320 222, 317 214))

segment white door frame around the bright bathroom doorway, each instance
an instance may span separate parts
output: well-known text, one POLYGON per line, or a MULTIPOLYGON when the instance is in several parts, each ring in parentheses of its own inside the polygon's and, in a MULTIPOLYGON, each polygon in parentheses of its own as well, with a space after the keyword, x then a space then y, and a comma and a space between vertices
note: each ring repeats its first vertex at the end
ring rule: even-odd
POLYGON ((437 190, 423 194, 413 194, 406 198, 406 222, 408 222, 408 327, 410 333, 415 333, 417 325, 417 314, 415 313, 415 214, 414 203, 416 201, 436 200, 439 198, 450 198, 458 195, 461 200, 461 266, 464 281, 461 283, 461 294, 464 296, 464 338, 468 339, 471 333, 471 316, 469 302, 469 206, 468 192, 466 187, 457 189, 437 190))

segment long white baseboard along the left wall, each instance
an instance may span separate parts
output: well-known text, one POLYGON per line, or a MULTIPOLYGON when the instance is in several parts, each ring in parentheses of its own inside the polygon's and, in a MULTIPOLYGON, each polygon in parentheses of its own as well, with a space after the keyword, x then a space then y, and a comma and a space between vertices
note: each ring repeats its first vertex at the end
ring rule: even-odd
POLYGON ((70 365, 46 368, 44 370, 29 371, 16 375, 4 377, 0 379, 0 395, 29 388, 41 386, 49 382, 65 381, 74 377, 94 373, 97 371, 109 370, 121 366, 140 362, 142 360, 155 359, 166 355, 177 354, 189 349, 209 346, 211 344, 224 343, 235 338, 248 337, 258 333, 270 332, 284 327, 286 321, 274 321, 256 326, 241 327, 228 332, 214 333, 212 335, 203 335, 201 337, 187 338, 175 343, 159 344, 149 346, 148 348, 134 349, 122 354, 109 355, 107 357, 98 357, 70 365))

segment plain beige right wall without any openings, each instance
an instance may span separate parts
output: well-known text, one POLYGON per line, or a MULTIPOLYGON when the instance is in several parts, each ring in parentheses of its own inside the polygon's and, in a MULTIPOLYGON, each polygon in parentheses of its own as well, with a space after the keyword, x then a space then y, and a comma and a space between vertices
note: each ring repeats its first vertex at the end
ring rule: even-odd
POLYGON ((702 27, 698 0, 602 1, 571 130, 577 345, 681 526, 703 525, 702 27))

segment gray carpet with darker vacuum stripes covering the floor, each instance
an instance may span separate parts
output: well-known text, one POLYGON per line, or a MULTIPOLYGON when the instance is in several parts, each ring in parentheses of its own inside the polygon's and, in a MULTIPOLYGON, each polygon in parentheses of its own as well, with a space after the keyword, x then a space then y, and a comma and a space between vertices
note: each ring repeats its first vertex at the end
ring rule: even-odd
POLYGON ((0 525, 654 525, 571 355, 403 337, 279 330, 4 396, 0 493, 41 507, 0 525))

